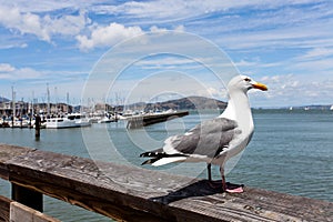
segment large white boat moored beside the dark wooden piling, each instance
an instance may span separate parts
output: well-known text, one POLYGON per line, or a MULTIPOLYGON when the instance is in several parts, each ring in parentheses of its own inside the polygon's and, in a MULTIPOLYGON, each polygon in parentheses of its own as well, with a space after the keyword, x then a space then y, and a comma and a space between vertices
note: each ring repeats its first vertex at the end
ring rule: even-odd
POLYGON ((71 113, 60 118, 50 118, 46 122, 47 129, 61 129, 61 128, 81 128, 89 127, 91 122, 81 113, 71 113))

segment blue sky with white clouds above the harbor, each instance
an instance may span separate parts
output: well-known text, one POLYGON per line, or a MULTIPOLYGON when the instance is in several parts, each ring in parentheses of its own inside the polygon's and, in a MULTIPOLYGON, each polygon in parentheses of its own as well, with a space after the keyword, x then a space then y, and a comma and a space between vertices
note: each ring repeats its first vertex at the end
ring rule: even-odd
POLYGON ((229 61, 253 107, 333 104, 332 27, 330 0, 0 0, 0 97, 226 100, 229 61))

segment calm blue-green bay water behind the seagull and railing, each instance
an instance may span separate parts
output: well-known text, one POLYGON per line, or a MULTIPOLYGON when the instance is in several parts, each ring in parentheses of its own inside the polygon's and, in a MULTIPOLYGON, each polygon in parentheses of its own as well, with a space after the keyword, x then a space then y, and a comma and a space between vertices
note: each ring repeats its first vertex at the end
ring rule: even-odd
MULTIPOLYGON (((182 119, 127 131, 124 122, 93 124, 84 129, 0 129, 0 143, 17 144, 94 160, 140 165, 138 155, 159 148, 163 140, 194 127, 216 113, 192 113, 182 119)), ((255 133, 226 180, 249 186, 333 202, 333 112, 256 110, 255 133)), ((150 167, 147 167, 150 168, 150 167)), ((206 178, 204 163, 154 168, 170 173, 206 178)), ((219 169, 214 178, 220 180, 219 169)), ((0 194, 10 196, 7 181, 0 194)), ((95 213, 44 198, 44 212, 61 221, 110 221, 95 213)))

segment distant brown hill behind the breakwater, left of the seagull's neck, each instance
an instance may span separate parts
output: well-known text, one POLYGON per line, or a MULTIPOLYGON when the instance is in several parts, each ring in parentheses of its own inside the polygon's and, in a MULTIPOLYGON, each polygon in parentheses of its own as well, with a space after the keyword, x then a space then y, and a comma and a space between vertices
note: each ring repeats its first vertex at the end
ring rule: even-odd
POLYGON ((208 109, 225 109, 226 103, 220 100, 204 98, 204 97, 188 97, 178 100, 169 100, 157 103, 135 103, 128 105, 128 109, 140 110, 208 110, 208 109))

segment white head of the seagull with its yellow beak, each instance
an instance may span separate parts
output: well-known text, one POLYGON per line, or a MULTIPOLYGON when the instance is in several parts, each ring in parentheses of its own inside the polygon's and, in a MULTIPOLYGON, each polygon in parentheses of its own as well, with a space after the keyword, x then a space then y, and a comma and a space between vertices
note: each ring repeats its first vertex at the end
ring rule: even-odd
POLYGON ((229 82, 228 89, 229 91, 241 90, 248 92, 251 89, 266 91, 269 88, 263 83, 252 80, 250 77, 236 75, 229 82))

